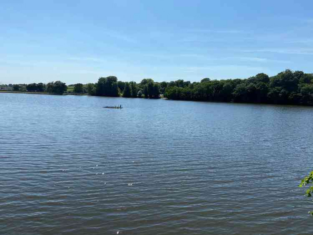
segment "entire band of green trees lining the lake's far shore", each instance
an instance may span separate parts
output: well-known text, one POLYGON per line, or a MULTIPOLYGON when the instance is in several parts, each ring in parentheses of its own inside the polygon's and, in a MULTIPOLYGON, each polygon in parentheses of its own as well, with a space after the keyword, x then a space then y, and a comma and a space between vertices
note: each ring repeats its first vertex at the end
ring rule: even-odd
POLYGON ((100 77, 96 83, 66 86, 55 81, 31 84, 2 85, 2 92, 27 92, 32 94, 75 94, 108 97, 160 98, 190 101, 246 102, 269 104, 294 104, 313 106, 313 74, 285 70, 275 76, 259 73, 247 79, 211 80, 200 82, 182 79, 170 82, 154 82, 143 79, 118 81, 117 77, 100 77))

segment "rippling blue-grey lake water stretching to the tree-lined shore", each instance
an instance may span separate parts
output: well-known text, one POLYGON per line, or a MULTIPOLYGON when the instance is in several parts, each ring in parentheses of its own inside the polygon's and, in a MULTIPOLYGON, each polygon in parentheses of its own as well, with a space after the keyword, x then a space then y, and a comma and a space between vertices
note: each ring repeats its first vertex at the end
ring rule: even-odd
POLYGON ((312 234, 312 114, 0 94, 0 234, 312 234))

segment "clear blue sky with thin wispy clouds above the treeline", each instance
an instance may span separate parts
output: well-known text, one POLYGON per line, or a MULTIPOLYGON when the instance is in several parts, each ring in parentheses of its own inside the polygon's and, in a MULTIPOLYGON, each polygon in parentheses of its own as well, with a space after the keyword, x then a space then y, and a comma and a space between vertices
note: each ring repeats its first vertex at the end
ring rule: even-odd
POLYGON ((313 72, 312 0, 1 1, 0 82, 313 72))

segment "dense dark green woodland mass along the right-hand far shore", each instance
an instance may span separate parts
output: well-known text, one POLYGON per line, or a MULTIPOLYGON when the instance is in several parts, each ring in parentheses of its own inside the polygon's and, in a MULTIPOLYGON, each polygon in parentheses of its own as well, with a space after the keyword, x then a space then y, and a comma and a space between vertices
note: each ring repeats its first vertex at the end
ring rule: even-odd
MULTIPOLYGON (((248 79, 201 82, 171 81, 164 97, 176 100, 298 104, 313 106, 313 75, 285 70, 269 77, 264 73, 248 79)), ((162 85, 164 86, 164 85, 162 85)))

